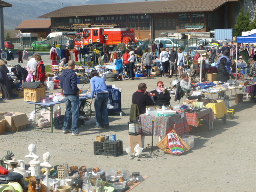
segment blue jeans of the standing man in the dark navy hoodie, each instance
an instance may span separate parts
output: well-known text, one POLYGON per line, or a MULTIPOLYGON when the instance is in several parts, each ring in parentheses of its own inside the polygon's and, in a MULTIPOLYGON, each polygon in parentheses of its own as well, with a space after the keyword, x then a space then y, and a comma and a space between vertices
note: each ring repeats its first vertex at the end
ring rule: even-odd
POLYGON ((78 117, 79 117, 79 96, 78 95, 69 95, 65 96, 66 102, 66 112, 64 117, 64 125, 62 130, 68 130, 68 124, 70 122, 70 115, 72 112, 72 122, 71 122, 71 130, 72 133, 76 133, 78 131, 78 117))

